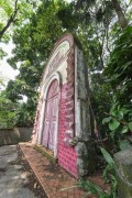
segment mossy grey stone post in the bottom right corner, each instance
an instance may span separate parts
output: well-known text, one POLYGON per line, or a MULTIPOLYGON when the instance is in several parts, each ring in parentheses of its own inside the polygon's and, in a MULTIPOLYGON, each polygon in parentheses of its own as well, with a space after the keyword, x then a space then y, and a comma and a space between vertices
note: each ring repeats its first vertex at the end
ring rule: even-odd
POLYGON ((118 177, 118 197, 132 197, 132 147, 114 154, 117 177, 118 177))

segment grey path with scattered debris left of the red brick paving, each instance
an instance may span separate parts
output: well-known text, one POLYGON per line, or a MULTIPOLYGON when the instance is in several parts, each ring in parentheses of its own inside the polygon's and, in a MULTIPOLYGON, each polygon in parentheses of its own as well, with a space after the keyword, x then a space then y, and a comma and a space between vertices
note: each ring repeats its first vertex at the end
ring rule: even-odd
POLYGON ((45 197, 25 166, 28 165, 20 158, 16 145, 0 147, 0 198, 45 197))

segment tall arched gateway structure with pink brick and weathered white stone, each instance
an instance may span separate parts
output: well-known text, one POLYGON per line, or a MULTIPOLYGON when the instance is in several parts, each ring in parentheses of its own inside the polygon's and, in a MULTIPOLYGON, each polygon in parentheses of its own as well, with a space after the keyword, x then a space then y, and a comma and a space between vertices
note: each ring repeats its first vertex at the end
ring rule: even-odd
POLYGON ((95 168, 88 67, 73 35, 53 46, 44 68, 32 143, 50 150, 75 177, 95 168))

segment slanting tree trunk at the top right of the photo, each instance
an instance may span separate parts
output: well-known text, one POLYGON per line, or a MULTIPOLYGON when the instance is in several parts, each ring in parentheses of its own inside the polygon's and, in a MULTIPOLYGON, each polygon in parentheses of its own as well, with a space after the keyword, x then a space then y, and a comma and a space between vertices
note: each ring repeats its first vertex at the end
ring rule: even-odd
POLYGON ((127 21, 124 13, 120 7, 120 3, 118 2, 118 0, 111 0, 111 1, 113 3, 113 8, 114 8, 116 13, 118 15, 119 23, 120 23, 121 28, 125 29, 128 26, 128 21, 127 21))

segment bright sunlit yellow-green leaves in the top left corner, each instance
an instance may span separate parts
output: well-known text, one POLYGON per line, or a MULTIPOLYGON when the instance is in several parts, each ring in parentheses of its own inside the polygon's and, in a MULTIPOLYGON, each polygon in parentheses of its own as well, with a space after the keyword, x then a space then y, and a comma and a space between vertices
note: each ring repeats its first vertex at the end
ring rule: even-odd
MULTIPOLYGON (((33 13, 33 2, 26 0, 3 0, 0 1, 0 41, 9 42, 12 36, 12 31, 15 26, 21 26, 23 22, 28 22, 33 13)), ((40 1, 38 1, 40 2, 40 1)), ((37 4, 37 3, 36 3, 37 4)))

